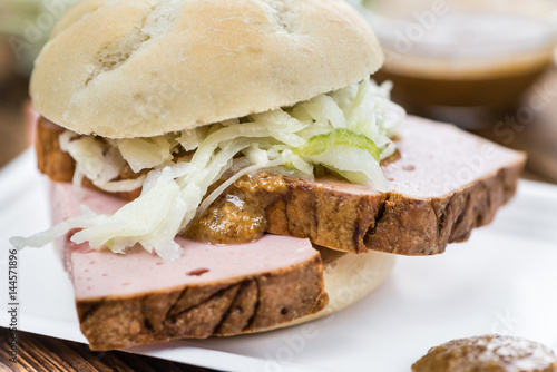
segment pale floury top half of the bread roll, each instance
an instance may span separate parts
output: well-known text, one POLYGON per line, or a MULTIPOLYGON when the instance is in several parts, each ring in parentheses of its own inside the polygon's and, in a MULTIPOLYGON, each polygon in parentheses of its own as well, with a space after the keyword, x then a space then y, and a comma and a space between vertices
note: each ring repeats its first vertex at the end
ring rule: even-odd
POLYGON ((292 106, 382 62, 341 0, 85 0, 39 56, 31 97, 79 134, 147 137, 292 106))

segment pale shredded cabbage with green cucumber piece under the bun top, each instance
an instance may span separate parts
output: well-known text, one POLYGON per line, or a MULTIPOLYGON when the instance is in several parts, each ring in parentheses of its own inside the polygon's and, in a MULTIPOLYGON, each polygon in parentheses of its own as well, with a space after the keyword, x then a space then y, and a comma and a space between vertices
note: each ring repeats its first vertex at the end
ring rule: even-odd
POLYGON ((81 216, 10 242, 17 248, 39 247, 78 228, 71 236, 77 244, 115 253, 139 244, 174 261, 182 254, 176 235, 250 173, 273 169, 312 179, 320 165, 385 190, 380 160, 394 151, 391 138, 405 115, 389 92, 389 85, 364 80, 290 108, 152 138, 102 140, 65 131, 60 147, 76 160, 76 183, 87 177, 107 192, 143 187, 141 194, 113 215, 82 208, 81 216), (144 174, 117 179, 125 167, 144 174), (232 176, 206 195, 225 173, 232 176))

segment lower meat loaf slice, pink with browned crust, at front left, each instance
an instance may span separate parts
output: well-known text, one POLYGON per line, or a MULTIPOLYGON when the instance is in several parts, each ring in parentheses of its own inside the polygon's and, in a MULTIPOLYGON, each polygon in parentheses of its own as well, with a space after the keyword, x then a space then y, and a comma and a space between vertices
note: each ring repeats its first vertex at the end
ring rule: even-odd
MULTIPOLYGON (((85 204, 113 213, 124 202, 52 183, 55 223, 85 204)), ((328 303, 321 257, 307 239, 266 235, 244 245, 187 245, 180 260, 163 263, 140 247, 125 255, 58 246, 70 274, 81 331, 92 350, 128 347, 177 337, 233 335, 275 327, 328 303)))

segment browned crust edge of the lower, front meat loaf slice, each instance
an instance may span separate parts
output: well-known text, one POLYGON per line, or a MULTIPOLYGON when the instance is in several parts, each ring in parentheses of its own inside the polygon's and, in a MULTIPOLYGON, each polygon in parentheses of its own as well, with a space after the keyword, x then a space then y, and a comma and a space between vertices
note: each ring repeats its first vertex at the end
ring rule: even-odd
POLYGON ((314 314, 328 301, 321 258, 315 255, 299 265, 229 283, 77 300, 76 306, 91 350, 111 350, 263 331, 314 314))

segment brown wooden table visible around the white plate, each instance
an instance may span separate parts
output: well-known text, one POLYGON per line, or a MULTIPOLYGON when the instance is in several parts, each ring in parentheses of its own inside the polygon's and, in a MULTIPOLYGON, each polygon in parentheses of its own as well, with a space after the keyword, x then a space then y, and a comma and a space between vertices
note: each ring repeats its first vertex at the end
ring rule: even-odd
MULTIPOLYGON (((548 72, 538 87, 553 89, 555 95, 547 98, 546 107, 536 112, 532 123, 515 128, 512 138, 498 135, 500 130, 495 131, 489 126, 479 134, 527 150, 530 154, 526 173, 528 178, 557 183, 557 71, 548 72)), ((3 85, 0 81, 0 167, 28 146, 21 114, 26 99, 25 79, 12 78, 3 85)), ((26 332, 18 332, 18 335, 21 362, 13 364, 8 361, 6 342, 10 332, 0 329, 0 370, 3 370, 1 363, 4 363, 14 371, 209 371, 125 352, 91 352, 84 344, 26 332)))

